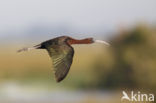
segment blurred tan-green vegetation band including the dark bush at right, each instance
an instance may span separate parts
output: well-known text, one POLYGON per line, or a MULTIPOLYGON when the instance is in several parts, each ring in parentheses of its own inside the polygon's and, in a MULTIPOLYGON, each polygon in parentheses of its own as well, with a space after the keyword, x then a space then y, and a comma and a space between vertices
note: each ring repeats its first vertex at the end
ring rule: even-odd
POLYGON ((3 49, 0 82, 17 80, 81 89, 156 91, 156 28, 139 25, 123 29, 110 39, 110 43, 110 47, 100 44, 74 46, 74 62, 67 78, 60 84, 53 79, 51 60, 46 51, 17 54, 16 50, 21 46, 3 49))

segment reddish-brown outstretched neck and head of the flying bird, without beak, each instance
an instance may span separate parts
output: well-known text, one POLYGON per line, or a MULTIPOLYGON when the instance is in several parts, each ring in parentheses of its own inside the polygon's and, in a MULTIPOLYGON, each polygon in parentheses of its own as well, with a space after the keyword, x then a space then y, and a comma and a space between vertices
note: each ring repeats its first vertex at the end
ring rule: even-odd
POLYGON ((81 40, 70 39, 68 43, 69 44, 91 44, 93 43, 93 39, 92 38, 86 38, 86 39, 81 39, 81 40))

